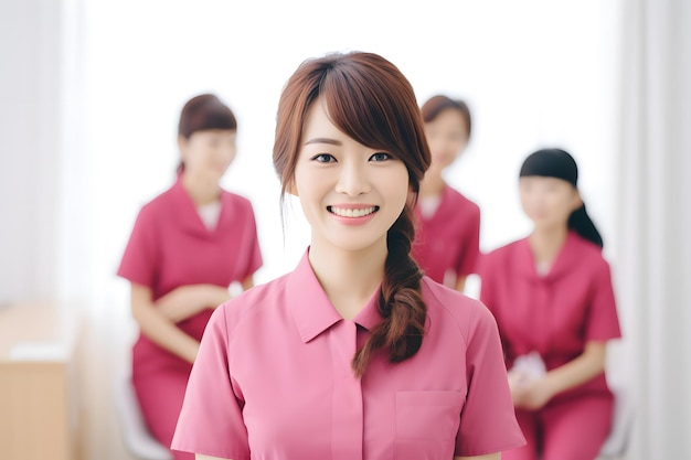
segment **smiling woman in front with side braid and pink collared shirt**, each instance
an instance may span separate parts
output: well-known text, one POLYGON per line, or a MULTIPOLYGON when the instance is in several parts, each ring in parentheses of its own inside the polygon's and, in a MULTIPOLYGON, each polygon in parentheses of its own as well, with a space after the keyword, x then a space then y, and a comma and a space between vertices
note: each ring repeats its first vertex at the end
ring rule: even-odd
POLYGON ((173 449, 198 459, 499 459, 524 442, 495 320, 423 277, 429 152, 408 81, 363 52, 305 61, 274 165, 311 239, 294 271, 214 313, 173 449))

